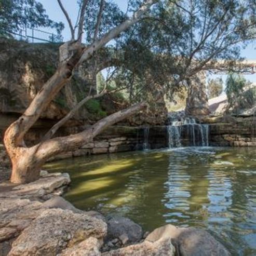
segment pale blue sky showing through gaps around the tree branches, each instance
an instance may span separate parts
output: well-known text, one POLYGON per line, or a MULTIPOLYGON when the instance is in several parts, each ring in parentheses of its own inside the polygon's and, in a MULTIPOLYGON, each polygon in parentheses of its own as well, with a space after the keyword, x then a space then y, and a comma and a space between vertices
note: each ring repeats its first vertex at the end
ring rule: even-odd
MULTIPOLYGON (((61 11, 57 0, 38 0, 38 2, 41 2, 46 9, 47 14, 49 15, 50 19, 55 21, 62 21, 65 25, 65 29, 62 32, 62 36, 64 38, 64 41, 67 41, 70 39, 70 30, 68 22, 65 19, 65 16, 63 15, 63 12, 61 11)), ((127 9, 127 0, 114 0, 114 2, 119 6, 119 8, 123 11, 126 11, 127 9)), ((77 0, 62 0, 62 4, 65 7, 65 9, 68 11, 69 16, 73 22, 73 24, 76 21, 77 18, 77 12, 78 12, 78 5, 76 4, 77 0)), ((54 30, 47 29, 49 32, 54 33, 54 30)), ((256 62, 256 43, 250 44, 246 47, 246 49, 241 51, 241 56, 245 57, 246 59, 253 59, 256 62)), ((209 75, 208 78, 215 78, 215 77, 222 77, 222 79, 225 81, 227 75, 209 75)), ((256 83, 256 74, 253 75, 245 75, 245 78, 250 80, 253 83, 256 83)))

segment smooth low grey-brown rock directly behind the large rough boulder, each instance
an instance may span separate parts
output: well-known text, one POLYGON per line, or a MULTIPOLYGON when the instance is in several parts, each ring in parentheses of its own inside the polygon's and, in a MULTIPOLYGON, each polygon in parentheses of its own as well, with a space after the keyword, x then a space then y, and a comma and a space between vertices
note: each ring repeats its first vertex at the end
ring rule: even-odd
POLYGON ((63 210, 71 210, 74 213, 84 213, 82 210, 77 209, 63 197, 55 196, 47 201, 45 201, 42 205, 45 208, 60 208, 63 210))

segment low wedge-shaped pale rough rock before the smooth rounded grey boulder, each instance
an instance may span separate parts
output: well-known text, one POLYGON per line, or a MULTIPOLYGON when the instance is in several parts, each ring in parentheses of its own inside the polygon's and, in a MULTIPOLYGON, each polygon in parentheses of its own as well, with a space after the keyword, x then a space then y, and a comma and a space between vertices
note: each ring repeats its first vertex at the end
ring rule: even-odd
POLYGON ((108 251, 102 256, 174 256, 175 248, 170 238, 161 238, 155 242, 144 241, 141 244, 108 251))

